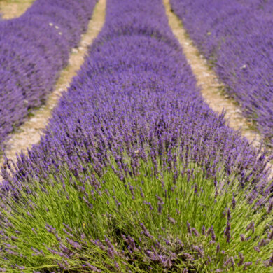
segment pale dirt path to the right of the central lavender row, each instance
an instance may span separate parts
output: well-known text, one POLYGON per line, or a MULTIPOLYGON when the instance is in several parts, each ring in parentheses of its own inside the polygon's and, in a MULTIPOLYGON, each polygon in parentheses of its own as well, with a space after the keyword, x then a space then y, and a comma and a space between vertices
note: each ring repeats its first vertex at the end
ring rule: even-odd
POLYGON ((193 41, 188 38, 181 20, 172 12, 169 0, 164 0, 164 4, 167 17, 169 18, 169 25, 179 40, 179 43, 181 43, 188 63, 197 78, 197 84, 201 87, 205 102, 207 102, 216 113, 221 113, 225 110, 228 125, 235 130, 240 130, 241 134, 246 137, 248 141, 252 142, 253 146, 259 146, 261 141, 260 135, 251 130, 251 124, 242 116, 241 109, 239 109, 235 102, 223 94, 223 84, 220 83, 214 71, 209 68, 207 60, 200 55, 200 52, 195 45, 193 45, 193 41))

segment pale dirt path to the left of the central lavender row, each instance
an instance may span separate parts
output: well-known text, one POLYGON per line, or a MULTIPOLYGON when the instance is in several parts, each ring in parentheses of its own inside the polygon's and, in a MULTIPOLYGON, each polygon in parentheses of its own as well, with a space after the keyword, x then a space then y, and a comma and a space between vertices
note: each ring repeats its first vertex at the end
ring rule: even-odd
MULTIPOLYGON (((27 148, 31 148, 33 144, 37 144, 38 141, 40 141, 41 134, 48 123, 48 119, 51 117, 52 109, 58 104, 62 92, 65 92, 69 87, 73 76, 76 76, 76 73, 85 60, 89 45, 102 29, 105 11, 106 0, 99 0, 94 8, 87 32, 82 35, 78 48, 73 48, 69 58, 69 64, 59 76, 55 90, 49 95, 46 104, 41 106, 38 110, 33 111, 32 118, 29 118, 27 122, 18 127, 17 132, 12 134, 7 141, 5 153, 9 159, 15 162, 16 153, 20 153, 20 151, 26 152, 27 148)), ((2 164, 3 157, 0 158, 0 165, 2 164)))

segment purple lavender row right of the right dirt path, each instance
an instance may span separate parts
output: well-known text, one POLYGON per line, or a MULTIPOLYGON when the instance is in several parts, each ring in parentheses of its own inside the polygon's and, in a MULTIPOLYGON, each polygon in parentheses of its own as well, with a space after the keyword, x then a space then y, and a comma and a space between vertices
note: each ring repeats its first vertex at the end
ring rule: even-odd
POLYGON ((264 0, 171 0, 226 91, 273 146, 273 5, 264 0))

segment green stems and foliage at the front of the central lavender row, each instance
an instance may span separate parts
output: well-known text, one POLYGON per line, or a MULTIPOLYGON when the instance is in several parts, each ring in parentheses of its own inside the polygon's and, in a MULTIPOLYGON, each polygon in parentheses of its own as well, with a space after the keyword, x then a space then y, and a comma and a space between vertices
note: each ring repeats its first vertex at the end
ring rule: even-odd
POLYGON ((271 272, 265 264, 272 255, 273 218, 268 205, 248 203, 251 181, 241 188, 236 177, 227 183, 222 172, 212 179, 196 164, 183 169, 180 156, 171 165, 167 156, 139 160, 133 174, 127 155, 127 174, 120 180, 112 162, 102 176, 91 166, 80 178, 64 171, 60 179, 34 180, 16 197, 3 198, 0 267, 6 272, 271 272), (254 247, 262 239, 258 252, 254 247))

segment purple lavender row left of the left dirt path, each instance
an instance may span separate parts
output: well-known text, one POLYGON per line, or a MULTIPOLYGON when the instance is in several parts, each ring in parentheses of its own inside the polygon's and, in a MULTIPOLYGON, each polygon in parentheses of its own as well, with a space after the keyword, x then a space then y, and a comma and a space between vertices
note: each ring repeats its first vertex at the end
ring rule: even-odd
POLYGON ((36 0, 0 23, 0 152, 29 110, 41 106, 87 29, 96 0, 36 0))

